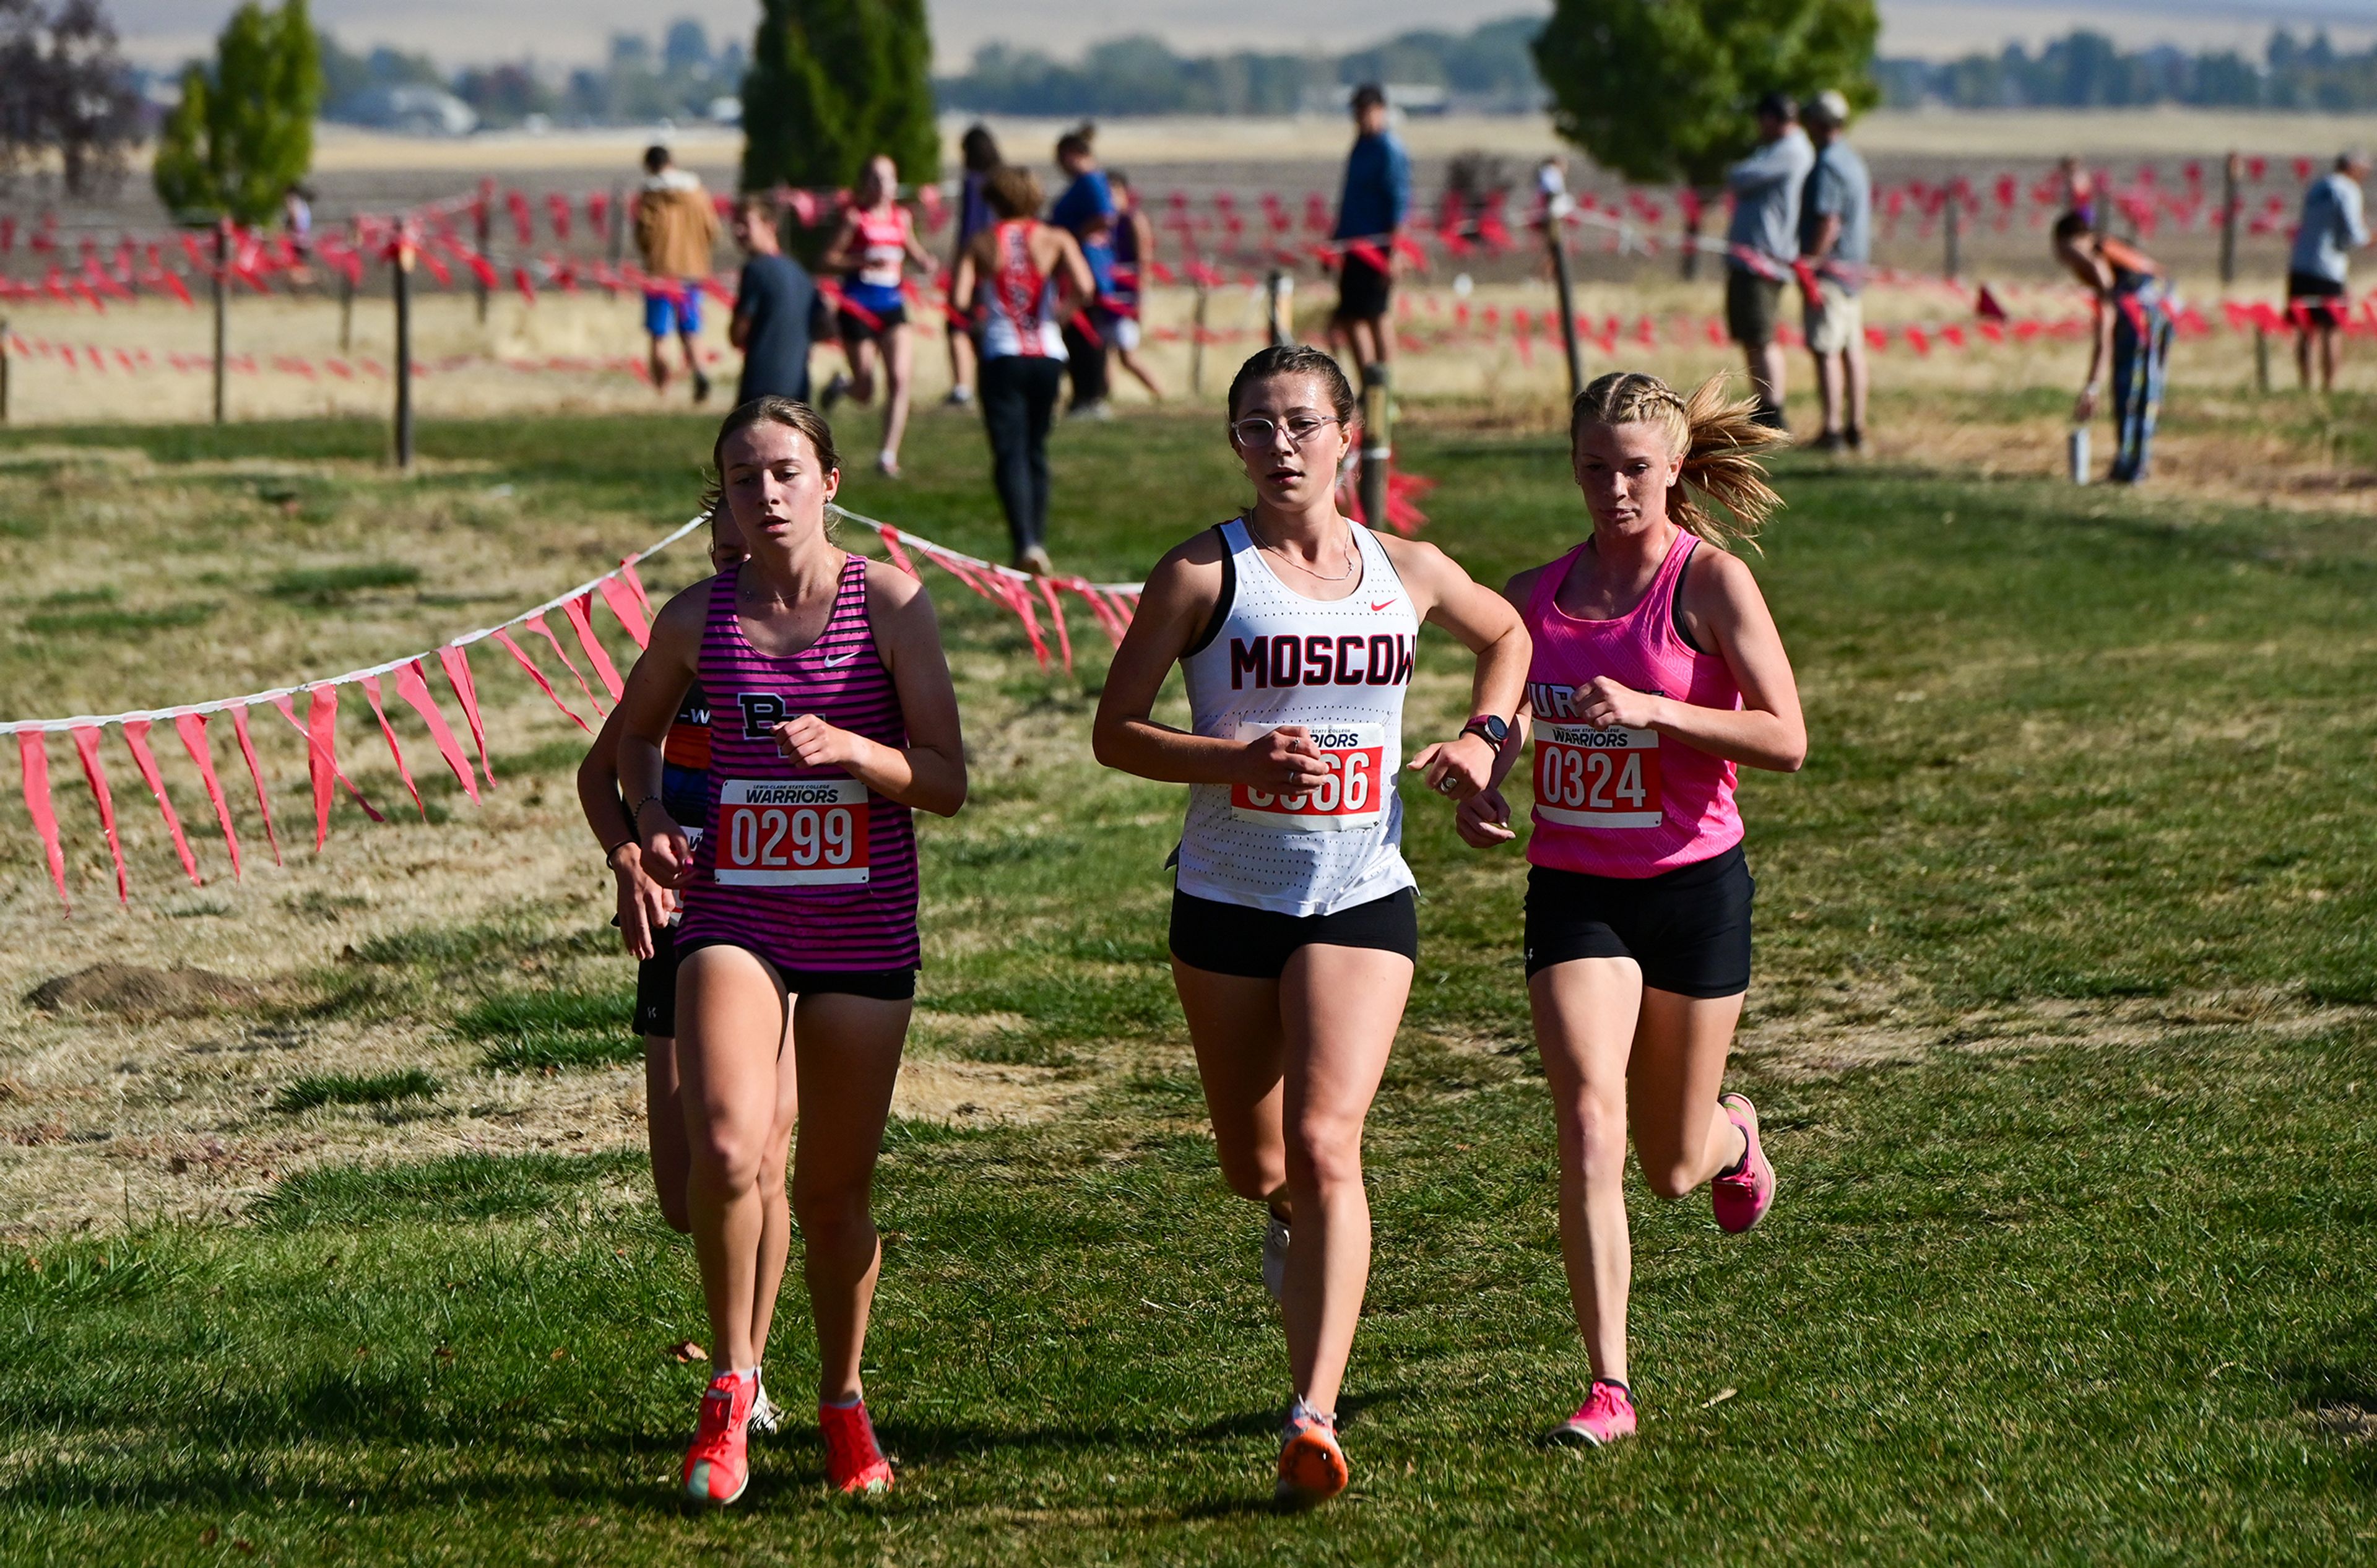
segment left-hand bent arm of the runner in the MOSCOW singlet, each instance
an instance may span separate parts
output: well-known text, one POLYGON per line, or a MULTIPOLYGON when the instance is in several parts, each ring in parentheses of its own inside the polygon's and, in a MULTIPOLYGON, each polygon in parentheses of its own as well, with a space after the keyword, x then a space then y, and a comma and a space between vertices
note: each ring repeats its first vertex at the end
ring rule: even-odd
POLYGON ((1284 725, 1253 741, 1188 734, 1158 725, 1150 713, 1172 665, 1212 620, 1222 599, 1222 558, 1210 535, 1165 556, 1131 615, 1131 630, 1115 649, 1098 696, 1089 744, 1098 763, 1162 784, 1253 784, 1255 789, 1310 789, 1326 774, 1319 746, 1303 725, 1284 725), (1210 556, 1210 558, 1208 558, 1210 556))

